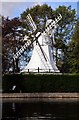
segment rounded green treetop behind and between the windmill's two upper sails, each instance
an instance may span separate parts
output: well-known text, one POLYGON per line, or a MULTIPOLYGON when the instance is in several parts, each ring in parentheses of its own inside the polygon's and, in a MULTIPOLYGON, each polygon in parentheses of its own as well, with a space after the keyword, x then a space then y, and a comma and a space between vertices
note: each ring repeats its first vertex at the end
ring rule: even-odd
MULTIPOLYGON (((47 4, 44 4, 42 6, 37 5, 34 6, 33 8, 26 9, 26 11, 24 11, 21 14, 21 18, 22 20, 26 20, 27 14, 30 13, 35 24, 38 27, 38 31, 40 31, 42 28, 44 28, 46 19, 52 17, 52 11, 53 11, 52 8, 47 4)), ((25 25, 24 27, 26 28, 26 31, 28 31, 28 26, 25 25)))

